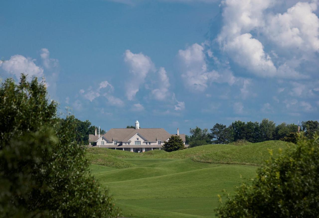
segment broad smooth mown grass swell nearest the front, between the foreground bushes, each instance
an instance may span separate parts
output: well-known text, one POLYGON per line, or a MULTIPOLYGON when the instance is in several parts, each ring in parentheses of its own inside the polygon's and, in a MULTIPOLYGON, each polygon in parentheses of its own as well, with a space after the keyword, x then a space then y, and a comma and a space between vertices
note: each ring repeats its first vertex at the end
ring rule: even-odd
POLYGON ((216 197, 223 189, 233 191, 255 175, 256 167, 223 165, 129 181, 104 182, 116 200, 177 197, 216 197))

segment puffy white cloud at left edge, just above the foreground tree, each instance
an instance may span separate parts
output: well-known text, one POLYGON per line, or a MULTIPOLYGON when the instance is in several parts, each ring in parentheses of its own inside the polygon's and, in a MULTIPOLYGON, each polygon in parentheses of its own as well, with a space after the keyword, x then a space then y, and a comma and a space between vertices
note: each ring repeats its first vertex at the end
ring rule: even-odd
POLYGON ((2 62, 1 68, 15 75, 17 79, 20 78, 21 73, 27 74, 28 78, 32 78, 33 76, 41 78, 43 76, 43 69, 34 62, 35 59, 26 58, 22 55, 13 55, 9 60, 2 62))

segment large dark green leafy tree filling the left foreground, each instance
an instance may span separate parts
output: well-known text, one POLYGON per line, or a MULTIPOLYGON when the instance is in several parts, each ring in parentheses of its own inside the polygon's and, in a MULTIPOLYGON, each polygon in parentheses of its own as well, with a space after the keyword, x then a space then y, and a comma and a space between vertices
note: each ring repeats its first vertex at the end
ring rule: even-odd
POLYGON ((22 75, 0 87, 0 217, 117 217, 89 174, 70 120, 58 125, 44 84, 22 75))

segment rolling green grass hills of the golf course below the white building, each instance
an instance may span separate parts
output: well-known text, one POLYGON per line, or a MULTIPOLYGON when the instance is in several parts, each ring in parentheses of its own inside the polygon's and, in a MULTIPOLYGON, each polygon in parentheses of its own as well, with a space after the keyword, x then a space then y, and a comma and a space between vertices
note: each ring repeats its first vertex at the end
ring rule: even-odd
POLYGON ((257 165, 293 149, 281 141, 204 145, 174 152, 87 149, 93 175, 125 217, 214 217, 217 194, 249 181, 257 165))

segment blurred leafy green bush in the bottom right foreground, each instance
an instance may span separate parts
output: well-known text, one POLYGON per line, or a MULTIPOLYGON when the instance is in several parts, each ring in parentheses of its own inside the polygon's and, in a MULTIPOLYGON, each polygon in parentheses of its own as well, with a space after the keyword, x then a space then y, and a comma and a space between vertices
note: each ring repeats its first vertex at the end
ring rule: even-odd
MULTIPOLYGON (((272 153, 272 150, 270 150, 272 153)), ((319 140, 269 159, 252 185, 243 184, 216 210, 218 217, 318 217, 319 140)), ((221 201, 221 199, 220 199, 221 201)))

